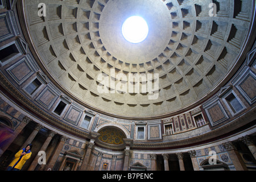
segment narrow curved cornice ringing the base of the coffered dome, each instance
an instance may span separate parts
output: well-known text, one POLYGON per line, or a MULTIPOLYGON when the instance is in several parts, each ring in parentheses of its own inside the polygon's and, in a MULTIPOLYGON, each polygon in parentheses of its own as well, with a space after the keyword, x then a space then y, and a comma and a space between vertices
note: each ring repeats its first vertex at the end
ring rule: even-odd
MULTIPOLYGON (((245 41, 246 43, 243 45, 239 55, 236 57, 236 63, 234 64, 232 69, 230 69, 230 72, 227 73, 226 76, 222 79, 222 81, 220 81, 212 90, 210 90, 207 94, 205 94, 204 97, 200 98, 200 100, 194 102, 193 104, 190 104, 190 105, 187 105, 187 106, 185 106, 181 109, 172 111, 171 113, 160 114, 160 115, 149 116, 149 117, 129 117, 129 116, 125 116, 125 115, 108 113, 108 112, 106 112, 102 109, 98 109, 94 106, 88 105, 87 103, 85 103, 84 101, 81 101, 79 98, 77 98, 72 93, 70 93, 67 89, 63 88, 63 86, 61 86, 60 83, 57 80, 55 80, 55 78, 53 78, 53 76, 48 71, 46 66, 40 60, 40 56, 39 56, 38 52, 36 51, 35 45, 32 43, 30 32, 27 31, 27 30, 29 30, 29 28, 28 28, 28 25, 26 23, 27 18, 26 18, 26 13, 24 13, 24 6, 25 6, 24 4, 25 4, 25 0, 17 2, 18 14, 19 14, 19 24, 20 24, 20 27, 22 28, 24 38, 26 39, 26 42, 28 43, 28 46, 30 47, 32 55, 35 57, 35 60, 39 64, 39 67, 47 75, 49 80, 51 80, 53 82, 53 84, 55 86, 57 86, 57 88, 59 88, 64 94, 67 94, 67 96, 72 98, 72 100, 74 100, 75 102, 87 107, 88 109, 92 109, 92 110, 94 110, 98 113, 109 115, 110 117, 115 117, 115 118, 120 118, 120 119, 131 119, 131 120, 139 120, 139 121, 141 121, 141 120, 151 120, 151 119, 163 119, 163 118, 171 117, 172 115, 177 115, 177 114, 184 113, 187 110, 190 110, 194 107, 197 107, 197 106, 203 104, 209 98, 214 96, 214 94, 217 94, 218 91, 222 88, 222 86, 227 84, 227 82, 238 71, 238 69, 241 67, 241 65, 243 64, 243 61, 245 60, 245 58, 247 56, 247 52, 250 51, 251 46, 253 45, 253 42, 250 42, 250 40, 254 40, 256 38, 256 34, 254 34, 254 30, 255 30, 255 9, 253 8, 252 15, 251 15, 252 18, 251 18, 251 23, 250 23, 250 28, 249 28, 250 31, 246 36, 246 41, 245 41)), ((253 7, 255 7, 255 2, 253 3, 253 7)))

